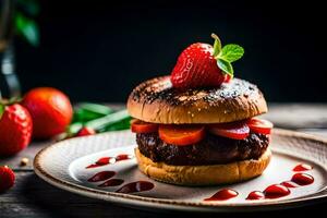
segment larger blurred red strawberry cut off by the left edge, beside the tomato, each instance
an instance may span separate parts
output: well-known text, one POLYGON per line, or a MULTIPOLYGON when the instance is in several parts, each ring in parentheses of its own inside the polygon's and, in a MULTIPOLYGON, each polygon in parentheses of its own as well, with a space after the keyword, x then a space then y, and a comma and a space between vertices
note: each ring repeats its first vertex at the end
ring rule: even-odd
POLYGON ((31 142, 32 118, 19 104, 0 102, 0 156, 14 155, 31 142))

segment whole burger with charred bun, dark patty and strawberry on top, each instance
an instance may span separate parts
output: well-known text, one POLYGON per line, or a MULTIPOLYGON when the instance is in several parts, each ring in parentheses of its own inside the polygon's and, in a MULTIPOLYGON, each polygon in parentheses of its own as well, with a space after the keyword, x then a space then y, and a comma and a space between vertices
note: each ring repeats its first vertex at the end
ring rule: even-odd
POLYGON ((233 77, 231 62, 244 50, 221 48, 213 37, 214 46, 189 46, 171 75, 140 84, 128 99, 138 168, 157 181, 235 183, 261 175, 269 164, 272 124, 256 118, 267 112, 266 100, 257 86, 233 77))

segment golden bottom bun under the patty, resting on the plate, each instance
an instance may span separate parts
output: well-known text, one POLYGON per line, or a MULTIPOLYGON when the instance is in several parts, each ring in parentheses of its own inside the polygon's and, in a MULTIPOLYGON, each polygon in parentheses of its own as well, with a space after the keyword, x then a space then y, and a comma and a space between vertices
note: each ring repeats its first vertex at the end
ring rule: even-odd
POLYGON ((261 175, 270 161, 268 148, 257 160, 242 160, 226 165, 172 166, 154 162, 135 148, 140 170, 152 179, 180 185, 216 185, 235 183, 261 175))

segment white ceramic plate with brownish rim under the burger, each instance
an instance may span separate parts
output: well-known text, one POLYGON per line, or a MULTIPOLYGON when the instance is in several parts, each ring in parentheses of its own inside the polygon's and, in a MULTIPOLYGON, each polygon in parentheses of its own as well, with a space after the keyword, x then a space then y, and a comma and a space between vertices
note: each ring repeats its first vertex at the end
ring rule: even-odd
POLYGON ((135 143, 130 131, 59 142, 37 154, 34 168, 41 179, 60 189, 144 209, 245 211, 295 207, 326 199, 327 141, 302 133, 275 130, 270 146, 274 155, 264 174, 243 183, 220 186, 177 186, 156 182, 142 174, 133 158, 135 143), (99 158, 116 157, 121 154, 130 155, 132 158, 96 168, 86 168, 99 158), (313 167, 312 170, 304 172, 314 178, 312 184, 290 189, 291 194, 275 199, 245 199, 251 191, 264 191, 270 184, 289 181, 296 173, 292 169, 299 164, 313 167), (99 184, 105 181, 88 181, 100 171, 114 171, 116 174, 111 179, 118 179, 123 183, 101 187, 99 184), (123 185, 135 181, 148 181, 154 184, 154 187, 131 194, 117 193, 123 185), (228 201, 204 201, 222 189, 232 189, 239 195, 228 201))

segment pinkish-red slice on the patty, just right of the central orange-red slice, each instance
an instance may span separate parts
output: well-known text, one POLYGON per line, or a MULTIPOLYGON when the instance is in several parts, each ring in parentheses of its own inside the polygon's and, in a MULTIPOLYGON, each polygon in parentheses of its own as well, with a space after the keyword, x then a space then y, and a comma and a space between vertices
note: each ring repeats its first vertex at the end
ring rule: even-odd
POLYGON ((233 140, 244 140, 249 136, 250 128, 244 122, 211 124, 208 131, 215 135, 233 140))

